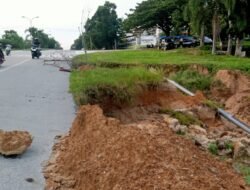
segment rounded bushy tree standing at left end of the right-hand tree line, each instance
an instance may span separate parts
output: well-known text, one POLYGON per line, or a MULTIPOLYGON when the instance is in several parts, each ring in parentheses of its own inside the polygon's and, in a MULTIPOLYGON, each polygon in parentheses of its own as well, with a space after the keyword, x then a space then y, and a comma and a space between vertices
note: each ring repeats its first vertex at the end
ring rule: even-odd
POLYGON ((99 6, 96 13, 85 24, 85 46, 97 49, 112 49, 118 40, 119 21, 116 5, 108 1, 99 6))

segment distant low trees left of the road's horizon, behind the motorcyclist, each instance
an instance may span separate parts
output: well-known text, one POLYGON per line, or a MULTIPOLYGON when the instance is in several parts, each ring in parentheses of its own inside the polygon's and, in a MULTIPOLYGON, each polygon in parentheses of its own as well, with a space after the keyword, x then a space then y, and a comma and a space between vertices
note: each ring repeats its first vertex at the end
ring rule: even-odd
POLYGON ((38 38, 41 43, 41 48, 61 49, 61 45, 53 37, 49 37, 43 30, 35 27, 30 27, 25 30, 27 34, 25 39, 18 35, 15 30, 6 30, 0 38, 0 43, 3 47, 10 44, 14 49, 30 48, 32 39, 38 38))

